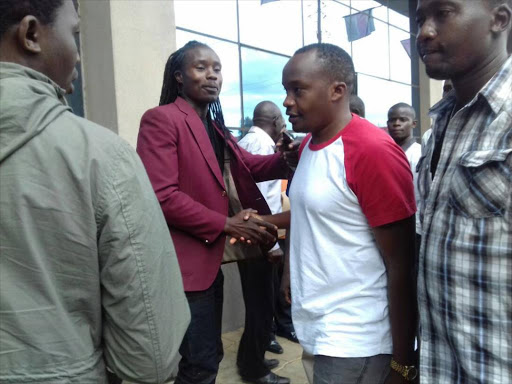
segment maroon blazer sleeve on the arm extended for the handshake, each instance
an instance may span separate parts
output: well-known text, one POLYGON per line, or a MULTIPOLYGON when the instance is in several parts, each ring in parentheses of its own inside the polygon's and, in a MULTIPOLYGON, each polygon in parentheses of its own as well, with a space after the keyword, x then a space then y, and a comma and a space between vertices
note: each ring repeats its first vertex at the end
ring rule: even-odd
POLYGON ((172 118, 158 108, 142 117, 137 153, 169 226, 210 243, 224 233, 226 216, 180 191, 176 127, 172 118))

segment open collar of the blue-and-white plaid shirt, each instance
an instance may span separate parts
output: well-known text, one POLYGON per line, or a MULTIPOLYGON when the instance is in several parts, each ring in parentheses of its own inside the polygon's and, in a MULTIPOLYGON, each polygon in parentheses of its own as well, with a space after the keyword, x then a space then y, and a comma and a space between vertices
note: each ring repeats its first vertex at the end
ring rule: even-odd
MULTIPOLYGON (((483 86, 466 106, 471 106, 475 104, 479 98, 483 98, 487 101, 494 114, 498 114, 507 98, 510 97, 511 88, 512 56, 505 61, 501 69, 483 86)), ((455 102, 455 91, 451 90, 446 97, 430 108, 429 116, 435 118, 438 115, 444 116, 446 113, 451 113, 455 102)))

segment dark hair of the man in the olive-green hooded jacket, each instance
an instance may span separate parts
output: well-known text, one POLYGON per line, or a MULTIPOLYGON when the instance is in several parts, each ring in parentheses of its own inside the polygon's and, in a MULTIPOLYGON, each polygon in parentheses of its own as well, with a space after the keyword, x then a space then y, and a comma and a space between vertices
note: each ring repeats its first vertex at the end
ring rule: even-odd
POLYGON ((32 15, 44 25, 55 21, 64 0, 0 0, 0 39, 25 16, 32 15))

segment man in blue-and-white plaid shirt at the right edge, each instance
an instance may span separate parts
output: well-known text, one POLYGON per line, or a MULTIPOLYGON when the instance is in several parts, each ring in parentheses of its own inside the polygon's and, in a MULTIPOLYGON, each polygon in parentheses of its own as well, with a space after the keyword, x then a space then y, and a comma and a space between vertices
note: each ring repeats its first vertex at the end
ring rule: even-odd
POLYGON ((509 0, 419 0, 427 74, 454 89, 433 119, 423 200, 421 383, 512 383, 509 0))

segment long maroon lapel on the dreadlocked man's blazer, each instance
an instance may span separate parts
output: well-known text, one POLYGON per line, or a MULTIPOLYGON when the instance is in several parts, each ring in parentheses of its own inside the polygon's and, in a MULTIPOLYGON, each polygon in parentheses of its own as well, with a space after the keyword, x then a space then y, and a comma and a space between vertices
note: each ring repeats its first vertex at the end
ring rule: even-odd
POLYGON ((215 152, 213 151, 212 143, 210 142, 210 138, 208 137, 208 133, 206 132, 206 128, 197 115, 196 111, 192 109, 192 107, 182 98, 178 97, 175 102, 178 107, 187 114, 187 118, 185 119, 189 129, 192 131, 192 135, 194 136, 203 157, 205 158, 210 170, 215 175, 215 178, 221 185, 223 189, 224 179, 222 177, 222 172, 219 167, 219 163, 217 161, 217 157, 215 156, 215 152))

